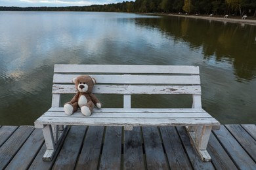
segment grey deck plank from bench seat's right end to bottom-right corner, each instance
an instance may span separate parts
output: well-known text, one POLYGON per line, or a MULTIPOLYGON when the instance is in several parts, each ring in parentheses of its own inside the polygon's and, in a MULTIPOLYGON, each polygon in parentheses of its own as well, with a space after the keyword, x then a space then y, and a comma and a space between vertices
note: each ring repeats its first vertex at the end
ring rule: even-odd
POLYGON ((234 139, 226 127, 221 126, 220 130, 213 131, 228 155, 232 158, 238 169, 255 169, 256 164, 245 152, 242 146, 234 139), (235 148, 235 149, 234 149, 235 148))

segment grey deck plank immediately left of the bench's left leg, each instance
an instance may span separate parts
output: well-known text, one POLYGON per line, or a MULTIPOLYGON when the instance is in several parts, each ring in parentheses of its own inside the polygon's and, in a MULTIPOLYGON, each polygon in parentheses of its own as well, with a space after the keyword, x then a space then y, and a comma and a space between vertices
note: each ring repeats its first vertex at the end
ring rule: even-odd
POLYGON ((37 155, 37 152, 41 149, 43 141, 42 130, 35 129, 26 143, 18 150, 18 153, 14 156, 6 169, 28 169, 30 163, 32 163, 37 155))

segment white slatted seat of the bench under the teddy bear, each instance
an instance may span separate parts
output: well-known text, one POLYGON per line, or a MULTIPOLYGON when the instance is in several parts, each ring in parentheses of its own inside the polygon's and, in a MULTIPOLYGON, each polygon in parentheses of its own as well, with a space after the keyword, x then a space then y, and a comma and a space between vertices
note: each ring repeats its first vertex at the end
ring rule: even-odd
POLYGON ((51 125, 76 126, 213 126, 219 122, 203 109, 94 109, 89 117, 78 110, 71 116, 63 107, 53 107, 35 121, 37 128, 51 125))

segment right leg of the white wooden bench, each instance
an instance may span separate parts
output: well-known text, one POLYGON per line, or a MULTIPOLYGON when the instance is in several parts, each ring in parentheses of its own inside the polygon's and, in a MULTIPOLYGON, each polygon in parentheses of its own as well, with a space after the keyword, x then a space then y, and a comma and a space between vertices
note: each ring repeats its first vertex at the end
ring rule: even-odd
POLYGON ((196 126, 188 128, 188 135, 192 141, 193 147, 196 149, 203 161, 211 161, 211 156, 207 152, 207 144, 211 135, 211 126, 196 126), (194 131, 191 131, 193 129, 194 131))

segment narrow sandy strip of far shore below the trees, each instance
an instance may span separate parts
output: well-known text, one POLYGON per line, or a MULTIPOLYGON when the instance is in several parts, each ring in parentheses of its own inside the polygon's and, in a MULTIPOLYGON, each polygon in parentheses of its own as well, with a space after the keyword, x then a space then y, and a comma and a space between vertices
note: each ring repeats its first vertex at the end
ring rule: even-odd
POLYGON ((238 23, 238 24, 249 24, 249 25, 256 25, 256 20, 251 19, 245 19, 242 20, 239 18, 224 18, 220 16, 196 16, 196 15, 184 15, 184 14, 160 14, 165 16, 179 16, 179 17, 186 17, 186 18, 196 18, 196 19, 202 19, 202 20, 213 20, 213 21, 220 21, 220 22, 232 22, 232 23, 238 23))

